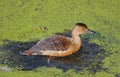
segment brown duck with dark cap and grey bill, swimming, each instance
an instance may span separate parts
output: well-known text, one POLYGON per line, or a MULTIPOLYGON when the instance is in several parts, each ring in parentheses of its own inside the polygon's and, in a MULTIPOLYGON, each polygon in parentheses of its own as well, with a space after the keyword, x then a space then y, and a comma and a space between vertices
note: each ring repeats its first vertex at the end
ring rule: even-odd
POLYGON ((46 55, 64 57, 77 52, 82 44, 79 35, 86 32, 91 32, 86 24, 76 23, 72 30, 72 38, 55 35, 41 40, 29 50, 25 51, 23 55, 46 55))

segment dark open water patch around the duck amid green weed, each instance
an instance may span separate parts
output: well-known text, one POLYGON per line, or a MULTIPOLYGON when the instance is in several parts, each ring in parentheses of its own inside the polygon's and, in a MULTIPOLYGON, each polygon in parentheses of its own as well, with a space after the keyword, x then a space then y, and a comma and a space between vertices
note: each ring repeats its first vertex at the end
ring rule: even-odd
POLYGON ((93 72, 103 70, 101 60, 106 56, 105 51, 101 46, 89 43, 89 40, 89 38, 82 39, 82 47, 77 53, 63 58, 52 58, 50 62, 48 62, 49 57, 46 56, 23 56, 20 54, 38 41, 14 42, 5 40, 1 50, 5 51, 8 56, 1 60, 1 64, 7 64, 11 67, 17 66, 23 70, 31 70, 42 66, 56 67, 63 69, 63 71, 68 69, 80 71, 86 67, 93 72))

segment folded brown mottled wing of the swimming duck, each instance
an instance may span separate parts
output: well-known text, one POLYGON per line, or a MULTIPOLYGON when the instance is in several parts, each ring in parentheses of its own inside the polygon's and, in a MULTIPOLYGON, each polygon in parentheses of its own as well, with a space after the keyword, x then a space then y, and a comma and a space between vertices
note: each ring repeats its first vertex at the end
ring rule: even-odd
POLYGON ((29 49, 33 53, 44 51, 65 51, 70 47, 71 38, 56 35, 39 41, 36 45, 29 49))

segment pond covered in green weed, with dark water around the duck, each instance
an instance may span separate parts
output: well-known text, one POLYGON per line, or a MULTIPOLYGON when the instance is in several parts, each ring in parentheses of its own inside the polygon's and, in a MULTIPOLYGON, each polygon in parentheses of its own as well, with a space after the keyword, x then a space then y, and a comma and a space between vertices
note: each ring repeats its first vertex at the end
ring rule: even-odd
POLYGON ((10 73, 0 71, 0 76, 119 77, 119 4, 119 0, 0 0, 0 65, 13 68, 10 73), (51 65, 43 61, 47 57, 20 55, 41 38, 71 36, 69 30, 76 22, 96 32, 81 36, 78 53, 56 58, 51 65))

